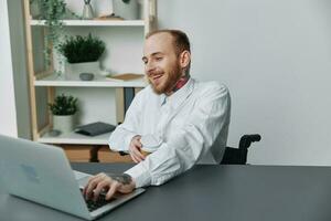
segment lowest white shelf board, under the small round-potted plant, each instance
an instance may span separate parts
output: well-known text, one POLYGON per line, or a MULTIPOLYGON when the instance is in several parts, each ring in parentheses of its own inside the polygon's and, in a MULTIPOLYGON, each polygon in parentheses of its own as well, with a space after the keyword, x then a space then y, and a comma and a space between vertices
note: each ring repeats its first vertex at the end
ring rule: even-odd
POLYGON ((47 133, 36 141, 44 144, 67 144, 67 145, 107 145, 111 133, 98 136, 84 136, 77 133, 61 134, 57 137, 51 137, 47 133))

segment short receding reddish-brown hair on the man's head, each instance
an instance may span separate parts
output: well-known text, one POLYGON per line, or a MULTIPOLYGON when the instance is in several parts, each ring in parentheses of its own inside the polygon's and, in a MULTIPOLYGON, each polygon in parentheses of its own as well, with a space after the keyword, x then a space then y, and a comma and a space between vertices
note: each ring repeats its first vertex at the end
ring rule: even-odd
POLYGON ((183 31, 170 29, 156 30, 149 32, 146 35, 146 39, 149 39, 150 36, 158 33, 169 33, 173 38, 173 46, 178 55, 180 55, 183 51, 189 51, 191 53, 190 40, 183 31))

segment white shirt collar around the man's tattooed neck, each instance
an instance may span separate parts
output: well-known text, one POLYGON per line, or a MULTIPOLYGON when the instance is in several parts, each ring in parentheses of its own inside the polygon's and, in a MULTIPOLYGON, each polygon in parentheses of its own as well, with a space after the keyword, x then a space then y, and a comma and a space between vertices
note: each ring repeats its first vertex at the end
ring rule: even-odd
POLYGON ((175 109, 192 94, 193 88, 194 88, 194 80, 190 77, 186 84, 182 86, 179 91, 173 93, 172 95, 167 96, 166 94, 162 94, 161 106, 166 103, 169 103, 169 105, 173 109, 175 109))

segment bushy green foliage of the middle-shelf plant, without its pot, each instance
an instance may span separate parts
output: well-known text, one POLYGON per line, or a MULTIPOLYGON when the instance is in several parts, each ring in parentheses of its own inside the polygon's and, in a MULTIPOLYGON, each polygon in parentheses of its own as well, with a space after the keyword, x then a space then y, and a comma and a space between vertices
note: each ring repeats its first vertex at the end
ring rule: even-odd
POLYGON ((105 51, 105 42, 97 36, 76 35, 66 39, 58 46, 58 52, 64 55, 68 63, 98 61, 105 51))

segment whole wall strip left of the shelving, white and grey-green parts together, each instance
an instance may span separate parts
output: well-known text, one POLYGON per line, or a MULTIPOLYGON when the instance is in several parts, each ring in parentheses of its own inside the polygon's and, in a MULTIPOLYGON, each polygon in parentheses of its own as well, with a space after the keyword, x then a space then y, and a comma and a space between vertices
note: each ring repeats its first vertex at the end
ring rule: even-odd
POLYGON ((22 2, 0 0, 0 134, 30 138, 22 2))

